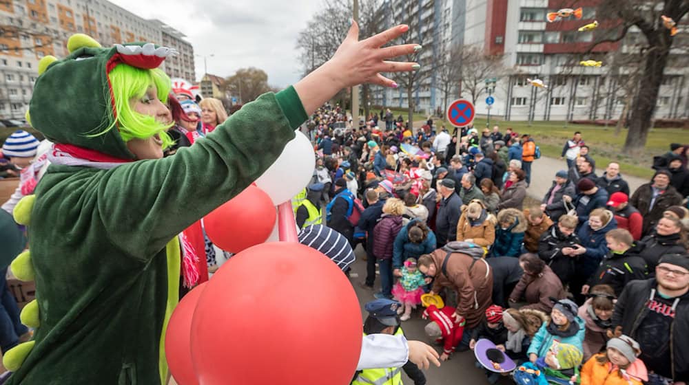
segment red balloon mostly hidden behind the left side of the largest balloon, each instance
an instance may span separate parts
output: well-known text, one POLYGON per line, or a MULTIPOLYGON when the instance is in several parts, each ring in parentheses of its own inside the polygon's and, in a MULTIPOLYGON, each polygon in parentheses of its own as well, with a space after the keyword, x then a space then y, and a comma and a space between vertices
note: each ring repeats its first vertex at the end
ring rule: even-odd
POLYGON ((192 350, 189 346, 192 331, 192 316, 198 298, 203 293, 207 281, 194 287, 187 293, 172 312, 167 331, 165 332, 165 358, 170 368, 172 377, 179 385, 198 385, 194 364, 192 363, 192 350))

